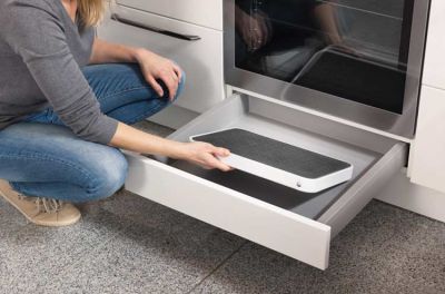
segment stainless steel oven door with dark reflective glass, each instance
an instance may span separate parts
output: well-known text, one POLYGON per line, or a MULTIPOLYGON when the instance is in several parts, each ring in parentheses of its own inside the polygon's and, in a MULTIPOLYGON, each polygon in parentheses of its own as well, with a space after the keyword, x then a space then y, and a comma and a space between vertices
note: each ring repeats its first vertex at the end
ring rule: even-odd
POLYGON ((413 138, 429 0, 224 0, 228 85, 413 138))

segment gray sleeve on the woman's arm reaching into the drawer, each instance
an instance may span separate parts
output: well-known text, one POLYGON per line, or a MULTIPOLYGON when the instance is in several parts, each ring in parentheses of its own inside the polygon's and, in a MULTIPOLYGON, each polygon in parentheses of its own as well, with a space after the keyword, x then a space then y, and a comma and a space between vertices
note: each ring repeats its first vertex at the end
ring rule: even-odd
MULTIPOLYGON (((19 2, 19 1, 18 1, 19 2)), ((23 1, 24 2, 24 1, 23 1)), ((77 136, 109 144, 118 121, 107 117, 67 43, 65 27, 46 1, 11 4, 6 41, 21 56, 50 106, 77 136), (46 7, 48 6, 48 7, 46 7)))

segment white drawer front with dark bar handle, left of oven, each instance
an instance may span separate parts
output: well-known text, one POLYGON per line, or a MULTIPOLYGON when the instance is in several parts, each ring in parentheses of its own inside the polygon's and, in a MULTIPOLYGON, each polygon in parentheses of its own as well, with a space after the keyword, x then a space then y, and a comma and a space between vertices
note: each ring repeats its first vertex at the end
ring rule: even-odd
POLYGON ((117 7, 113 12, 121 22, 111 20, 108 14, 98 29, 100 38, 145 47, 175 60, 184 69, 187 82, 184 94, 176 101, 177 106, 202 112, 224 99, 221 31, 130 8, 117 7), (152 28, 168 31, 169 35, 191 36, 192 40, 156 32, 152 28))

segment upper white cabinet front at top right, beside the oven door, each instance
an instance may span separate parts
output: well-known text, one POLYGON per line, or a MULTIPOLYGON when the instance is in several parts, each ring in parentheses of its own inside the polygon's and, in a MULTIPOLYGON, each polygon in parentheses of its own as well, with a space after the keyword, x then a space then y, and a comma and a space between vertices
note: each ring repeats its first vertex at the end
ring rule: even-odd
POLYGON ((444 16, 445 1, 432 0, 423 84, 441 89, 445 89, 444 16))

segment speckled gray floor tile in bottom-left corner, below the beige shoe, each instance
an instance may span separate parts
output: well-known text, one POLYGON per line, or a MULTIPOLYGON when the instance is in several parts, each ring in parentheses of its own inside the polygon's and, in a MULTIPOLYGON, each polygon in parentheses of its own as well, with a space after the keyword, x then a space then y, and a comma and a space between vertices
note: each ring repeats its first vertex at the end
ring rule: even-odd
MULTIPOLYGON (((100 203, 82 209, 82 219, 69 227, 48 228, 27 223, 2 202, 0 228, 0 275, 2 292, 28 293, 44 288, 51 277, 79 257, 122 231, 119 216, 102 208, 100 203)), ((42 291, 41 293, 44 293, 42 291)))

